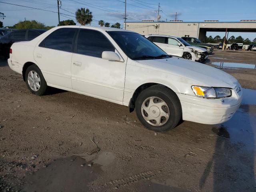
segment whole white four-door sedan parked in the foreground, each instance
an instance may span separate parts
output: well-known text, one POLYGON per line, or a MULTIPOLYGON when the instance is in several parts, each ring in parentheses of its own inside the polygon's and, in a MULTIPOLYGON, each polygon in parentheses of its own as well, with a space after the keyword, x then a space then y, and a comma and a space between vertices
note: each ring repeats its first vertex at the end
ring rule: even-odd
POLYGON ((14 43, 8 64, 33 94, 52 86, 128 106, 154 131, 172 129, 181 119, 226 122, 242 100, 233 76, 171 57, 142 35, 117 28, 55 27, 14 43))

